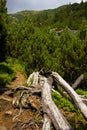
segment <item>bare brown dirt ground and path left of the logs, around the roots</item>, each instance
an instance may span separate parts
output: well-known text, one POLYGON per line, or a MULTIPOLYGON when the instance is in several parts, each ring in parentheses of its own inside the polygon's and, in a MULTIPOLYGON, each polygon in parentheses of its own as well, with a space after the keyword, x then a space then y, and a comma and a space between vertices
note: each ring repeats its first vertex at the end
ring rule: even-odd
MULTIPOLYGON (((4 92, 0 92, 0 130, 41 130, 42 116, 39 110, 28 108, 20 110, 12 105, 14 93, 10 87, 22 86, 26 78, 21 72, 17 72, 16 79, 7 86, 4 92)), ((38 98, 33 97, 37 104, 38 98)))

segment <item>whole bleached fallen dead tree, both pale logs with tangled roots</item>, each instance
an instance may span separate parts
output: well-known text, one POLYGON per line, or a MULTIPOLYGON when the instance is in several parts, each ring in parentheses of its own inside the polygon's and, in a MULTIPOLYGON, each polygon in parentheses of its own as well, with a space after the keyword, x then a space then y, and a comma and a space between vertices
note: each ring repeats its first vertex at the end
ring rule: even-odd
MULTIPOLYGON (((52 77, 46 78, 40 75, 38 72, 34 72, 30 75, 27 83, 29 88, 20 86, 14 91, 22 90, 20 98, 17 103, 19 103, 19 108, 25 107, 25 103, 30 104, 30 106, 36 108, 34 102, 32 102, 32 98, 30 99, 31 95, 37 95, 42 92, 42 104, 41 107, 43 108, 44 112, 44 122, 42 130, 50 130, 51 129, 51 122, 54 125, 56 130, 73 130, 71 125, 65 119, 61 111, 57 108, 55 103, 52 100, 51 91, 53 90, 52 84, 54 79, 60 85, 62 85, 63 89, 72 97, 76 106, 81 110, 84 117, 87 119, 87 106, 85 104, 86 99, 83 99, 79 96, 73 88, 63 80, 63 78, 56 72, 52 72, 50 74, 52 77), (24 99, 24 100, 23 100, 24 99), (28 101, 29 100, 29 101, 28 101)), ((60 93, 57 93, 60 94, 60 93)), ((34 98, 35 99, 35 98, 34 98)), ((32 108, 33 108, 32 107, 32 108)))

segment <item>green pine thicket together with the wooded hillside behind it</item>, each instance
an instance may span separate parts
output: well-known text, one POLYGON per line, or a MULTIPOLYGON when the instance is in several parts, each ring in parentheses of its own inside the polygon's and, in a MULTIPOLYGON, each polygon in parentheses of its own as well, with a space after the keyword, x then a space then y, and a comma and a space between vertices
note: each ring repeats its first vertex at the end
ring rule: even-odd
POLYGON ((73 83, 87 71, 87 20, 82 13, 86 11, 86 4, 10 15, 21 22, 9 25, 8 56, 17 58, 28 75, 45 67, 73 83), (57 35, 59 30, 60 36, 57 35))

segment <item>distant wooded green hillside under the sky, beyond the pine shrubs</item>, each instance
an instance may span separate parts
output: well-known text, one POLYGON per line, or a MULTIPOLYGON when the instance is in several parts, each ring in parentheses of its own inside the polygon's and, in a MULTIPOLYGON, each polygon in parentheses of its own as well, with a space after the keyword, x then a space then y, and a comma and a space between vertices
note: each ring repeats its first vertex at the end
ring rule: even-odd
POLYGON ((32 19, 35 26, 45 27, 58 25, 63 28, 68 26, 72 29, 78 29, 82 23, 82 19, 87 19, 87 2, 63 5, 56 9, 44 11, 22 11, 9 15, 10 24, 21 22, 26 17, 32 19))

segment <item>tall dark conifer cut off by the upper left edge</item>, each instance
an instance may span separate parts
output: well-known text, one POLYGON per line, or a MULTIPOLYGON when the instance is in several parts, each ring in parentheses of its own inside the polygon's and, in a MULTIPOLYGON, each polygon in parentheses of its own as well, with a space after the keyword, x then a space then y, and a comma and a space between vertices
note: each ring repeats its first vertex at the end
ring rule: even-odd
POLYGON ((0 0, 0 62, 5 60, 6 53, 6 19, 7 9, 6 0, 0 0))

